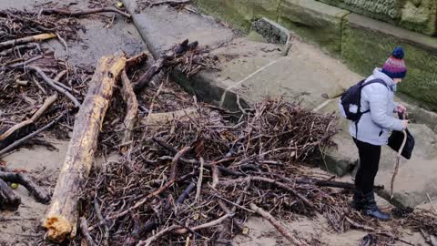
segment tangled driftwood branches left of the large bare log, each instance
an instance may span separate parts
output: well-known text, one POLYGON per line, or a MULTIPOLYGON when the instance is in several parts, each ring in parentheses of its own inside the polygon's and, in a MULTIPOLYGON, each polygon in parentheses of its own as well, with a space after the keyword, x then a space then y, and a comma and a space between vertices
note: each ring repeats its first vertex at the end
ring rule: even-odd
MULTIPOLYGON (((76 16, 100 12, 130 17, 113 8, 0 11, 0 158, 23 145, 42 144, 53 148, 37 138, 47 129, 55 128, 52 132, 57 137, 67 136, 93 69, 69 65, 67 56, 56 58, 44 43, 56 39, 64 45, 67 55, 67 42, 77 41, 77 32, 85 28, 76 16)), ((2 210, 16 210, 21 203, 6 182, 23 185, 39 202, 50 200, 46 190, 36 186, 25 173, 1 167, 2 210)))

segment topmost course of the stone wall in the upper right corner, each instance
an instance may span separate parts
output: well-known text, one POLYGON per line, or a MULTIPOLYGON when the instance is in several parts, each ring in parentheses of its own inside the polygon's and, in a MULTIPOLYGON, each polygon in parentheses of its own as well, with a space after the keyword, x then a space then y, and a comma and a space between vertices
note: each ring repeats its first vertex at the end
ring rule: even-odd
POLYGON ((318 0, 406 27, 429 36, 436 34, 437 2, 435 0, 318 0))

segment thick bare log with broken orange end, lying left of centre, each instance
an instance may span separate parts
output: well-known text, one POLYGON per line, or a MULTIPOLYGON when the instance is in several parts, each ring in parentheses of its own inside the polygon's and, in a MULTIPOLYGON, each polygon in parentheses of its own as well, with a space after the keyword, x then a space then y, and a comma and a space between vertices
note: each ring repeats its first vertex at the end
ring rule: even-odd
POLYGON ((77 203, 97 148, 98 132, 107 112, 117 77, 126 65, 122 53, 104 56, 88 87, 82 107, 79 109, 66 152, 52 202, 43 226, 51 241, 64 241, 76 236, 77 203))

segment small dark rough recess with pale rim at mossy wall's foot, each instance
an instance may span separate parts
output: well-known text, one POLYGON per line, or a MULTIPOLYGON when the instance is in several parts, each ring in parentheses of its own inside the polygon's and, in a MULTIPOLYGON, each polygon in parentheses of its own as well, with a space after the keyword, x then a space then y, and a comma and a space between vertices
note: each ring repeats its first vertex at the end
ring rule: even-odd
POLYGON ((259 33, 267 42, 272 44, 285 45, 290 40, 290 31, 268 18, 261 18, 253 22, 251 31, 259 33))

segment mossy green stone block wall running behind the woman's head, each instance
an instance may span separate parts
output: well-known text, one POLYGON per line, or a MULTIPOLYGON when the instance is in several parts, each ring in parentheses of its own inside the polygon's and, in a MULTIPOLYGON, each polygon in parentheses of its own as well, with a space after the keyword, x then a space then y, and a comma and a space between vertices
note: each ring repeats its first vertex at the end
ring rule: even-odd
POLYGON ((249 32, 253 21, 267 17, 320 46, 330 56, 340 57, 362 76, 368 76, 373 67, 381 67, 394 46, 403 46, 409 71, 400 86, 401 92, 417 99, 421 106, 437 111, 437 37, 430 36, 436 33, 436 0, 195 0, 195 3, 201 11, 245 32, 249 32))

